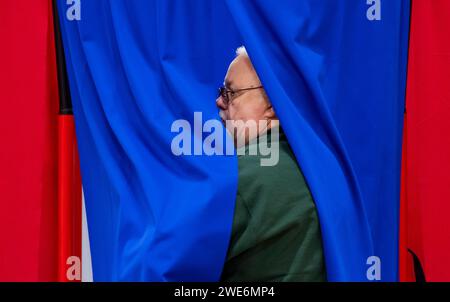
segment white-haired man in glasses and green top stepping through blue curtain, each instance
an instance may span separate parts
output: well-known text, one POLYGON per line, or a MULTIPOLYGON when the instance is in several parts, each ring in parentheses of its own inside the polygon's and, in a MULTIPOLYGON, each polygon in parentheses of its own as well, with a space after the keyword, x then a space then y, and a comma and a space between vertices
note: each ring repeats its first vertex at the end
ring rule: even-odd
MULTIPOLYGON (((223 281, 325 281, 316 207, 250 58, 241 47, 216 100, 224 121, 255 121, 257 131, 226 122, 237 147, 248 151, 279 133, 279 161, 238 155, 239 180, 223 281), (263 123, 260 123, 263 121, 263 123), (262 126, 261 126, 262 125, 262 126), (247 129, 248 130, 248 129, 247 129)), ((241 124, 242 125, 242 124, 241 124)), ((271 141, 272 140, 272 141, 271 141)))

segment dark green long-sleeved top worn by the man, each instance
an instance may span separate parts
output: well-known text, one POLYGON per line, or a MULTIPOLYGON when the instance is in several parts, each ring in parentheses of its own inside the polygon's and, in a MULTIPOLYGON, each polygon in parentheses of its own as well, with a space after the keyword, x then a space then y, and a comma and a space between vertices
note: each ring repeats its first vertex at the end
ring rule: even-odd
MULTIPOLYGON (((315 204, 282 131, 279 142, 275 166, 261 166, 261 155, 238 156, 238 192, 222 281, 326 281, 315 204)), ((246 151, 256 143, 250 142, 246 151)))

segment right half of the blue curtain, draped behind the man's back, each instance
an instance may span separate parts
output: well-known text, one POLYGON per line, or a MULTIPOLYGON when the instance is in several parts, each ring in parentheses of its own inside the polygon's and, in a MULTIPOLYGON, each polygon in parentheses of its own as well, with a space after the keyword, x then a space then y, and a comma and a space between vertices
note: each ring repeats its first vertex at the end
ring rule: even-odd
POLYGON ((332 281, 398 272, 409 0, 227 4, 305 174, 332 281))

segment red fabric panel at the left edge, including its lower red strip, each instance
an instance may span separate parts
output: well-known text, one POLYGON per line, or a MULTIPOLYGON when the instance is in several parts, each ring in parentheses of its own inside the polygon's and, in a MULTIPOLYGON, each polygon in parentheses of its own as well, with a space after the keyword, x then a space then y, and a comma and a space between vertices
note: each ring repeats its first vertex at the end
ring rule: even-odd
POLYGON ((51 1, 1 1, 0 20, 0 281, 66 281, 81 196, 51 1))

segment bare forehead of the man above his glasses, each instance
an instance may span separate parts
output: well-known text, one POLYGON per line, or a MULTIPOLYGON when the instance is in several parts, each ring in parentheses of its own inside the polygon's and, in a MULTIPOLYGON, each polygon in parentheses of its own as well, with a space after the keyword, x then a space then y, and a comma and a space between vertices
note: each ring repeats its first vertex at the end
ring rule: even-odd
POLYGON ((228 67, 225 85, 229 88, 241 87, 253 83, 257 79, 258 76, 250 59, 247 56, 240 55, 228 67))

